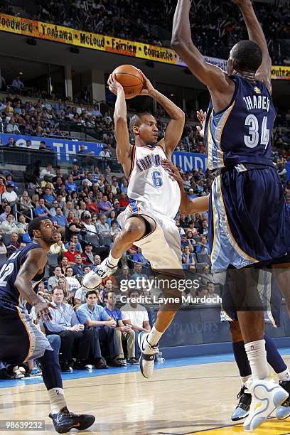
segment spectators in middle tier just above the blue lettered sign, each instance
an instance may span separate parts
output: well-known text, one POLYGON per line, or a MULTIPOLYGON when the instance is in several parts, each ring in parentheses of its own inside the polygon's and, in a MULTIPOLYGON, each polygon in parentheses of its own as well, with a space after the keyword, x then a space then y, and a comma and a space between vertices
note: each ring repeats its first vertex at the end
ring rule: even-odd
MULTIPOLYGON (((158 105, 156 119, 160 136, 163 137, 166 129, 166 113, 158 105)), ((189 151, 194 153, 205 153, 205 143, 196 129, 193 122, 196 122, 196 114, 188 113, 187 122, 183 129, 183 135, 176 151, 189 151)), ((104 144, 104 151, 100 156, 115 158, 116 141, 114 139, 114 122, 110 112, 100 112, 96 104, 70 104, 61 99, 53 102, 51 100, 38 100, 33 103, 24 101, 23 97, 7 95, 0 101, 0 125, 2 132, 8 134, 23 134, 28 136, 45 137, 72 137, 73 131, 86 131, 87 134, 104 144), (70 134, 68 132, 70 131, 70 134)), ((276 127, 273 138, 273 159, 278 161, 281 156, 287 161, 290 158, 290 110, 288 112, 278 110, 276 127)), ((130 134, 130 141, 134 137, 130 134)), ((6 146, 16 146, 16 141, 11 138, 6 146)), ((31 147, 31 141, 26 141, 26 146, 31 147)), ((85 154, 84 147, 80 148, 81 154, 85 154)), ((40 149, 50 151, 49 146, 41 144, 40 149)))

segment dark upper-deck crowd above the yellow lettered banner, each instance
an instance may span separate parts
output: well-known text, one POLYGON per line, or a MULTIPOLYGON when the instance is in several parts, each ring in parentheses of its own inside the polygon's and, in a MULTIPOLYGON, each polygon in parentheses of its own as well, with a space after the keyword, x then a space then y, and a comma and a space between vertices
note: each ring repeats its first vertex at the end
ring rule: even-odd
MULTIPOLYGON (((36 11, 32 18, 154 45, 168 44, 176 8, 176 0, 70 0, 65 4, 34 0, 34 3, 36 11)), ((254 7, 274 63, 284 63, 287 53, 281 45, 277 50, 275 41, 289 39, 289 9, 277 0, 267 4, 256 2, 254 7)), ((240 11, 230 1, 193 0, 190 23, 195 45, 209 56, 225 58, 237 40, 247 37, 240 11)))

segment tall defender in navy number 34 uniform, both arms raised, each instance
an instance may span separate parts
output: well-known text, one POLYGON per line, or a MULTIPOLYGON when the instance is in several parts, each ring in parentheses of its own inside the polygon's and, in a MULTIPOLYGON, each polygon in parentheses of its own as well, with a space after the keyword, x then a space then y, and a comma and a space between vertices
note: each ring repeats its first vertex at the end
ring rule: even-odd
MULTIPOLYGON (((240 6, 249 41, 232 48, 227 74, 208 64, 193 44, 190 0, 178 0, 171 46, 210 92, 205 124, 208 167, 221 173, 209 198, 209 241, 213 271, 227 269, 252 370, 253 380, 247 385, 252 403, 244 424, 250 431, 289 397, 269 380, 264 316, 257 293, 259 270, 249 266, 277 262, 289 267, 290 220, 279 176, 269 159, 275 111, 267 42, 251 1, 232 2, 240 6)), ((193 200, 195 205, 185 201, 188 213, 207 208, 206 200, 193 200)), ((289 269, 277 274, 277 281, 290 304, 287 276, 289 269)))

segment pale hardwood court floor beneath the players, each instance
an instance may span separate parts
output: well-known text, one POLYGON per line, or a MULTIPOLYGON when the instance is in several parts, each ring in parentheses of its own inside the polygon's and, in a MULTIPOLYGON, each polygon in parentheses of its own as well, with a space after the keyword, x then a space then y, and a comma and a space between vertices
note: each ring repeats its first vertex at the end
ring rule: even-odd
MULTIPOLYGON (((290 355, 284 360, 289 365, 290 355)), ((17 384, 0 388, 0 420, 44 419, 45 430, 31 433, 56 434, 48 418, 49 402, 43 383, 17 384)), ((73 429, 71 434, 245 434, 242 425, 233 425, 230 420, 240 390, 237 368, 232 362, 161 368, 155 370, 151 380, 145 380, 138 371, 130 371, 66 380, 64 385, 71 410, 96 416, 92 428, 82 432, 73 429)), ((269 419, 254 434, 290 434, 290 418, 269 419)))

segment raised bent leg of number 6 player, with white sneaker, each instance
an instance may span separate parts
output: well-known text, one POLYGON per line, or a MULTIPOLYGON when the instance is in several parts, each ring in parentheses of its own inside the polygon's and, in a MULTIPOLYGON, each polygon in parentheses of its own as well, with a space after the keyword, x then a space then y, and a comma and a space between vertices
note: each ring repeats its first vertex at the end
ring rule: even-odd
POLYGON ((136 242, 144 237, 146 233, 146 222, 144 218, 133 216, 125 222, 123 230, 114 240, 114 245, 109 257, 104 259, 101 264, 94 267, 91 272, 86 274, 82 279, 82 286, 88 290, 100 286, 102 279, 114 274, 122 254, 136 242))

